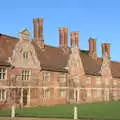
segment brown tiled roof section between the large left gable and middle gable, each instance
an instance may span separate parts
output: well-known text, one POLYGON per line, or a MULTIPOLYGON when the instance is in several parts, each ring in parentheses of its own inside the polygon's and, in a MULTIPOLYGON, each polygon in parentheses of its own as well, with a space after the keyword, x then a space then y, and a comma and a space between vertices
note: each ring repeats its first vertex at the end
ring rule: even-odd
POLYGON ((32 41, 32 44, 34 45, 37 57, 43 69, 66 71, 65 67, 69 54, 64 54, 61 48, 45 45, 44 50, 41 50, 34 41, 32 41))

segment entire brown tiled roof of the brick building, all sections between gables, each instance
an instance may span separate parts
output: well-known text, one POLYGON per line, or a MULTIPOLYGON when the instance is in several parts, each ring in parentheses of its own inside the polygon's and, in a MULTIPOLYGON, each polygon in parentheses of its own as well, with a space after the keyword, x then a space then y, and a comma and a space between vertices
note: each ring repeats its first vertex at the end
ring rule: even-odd
MULTIPOLYGON (((0 66, 9 64, 7 62, 8 57, 12 55, 12 51, 17 42, 18 38, 0 34, 0 66)), ((40 49, 34 43, 34 41, 32 41, 32 44, 35 48, 37 58, 40 61, 40 65, 43 70, 67 72, 65 67, 67 65, 70 54, 69 49, 69 52, 65 53, 59 47, 45 45, 44 49, 40 49)), ((88 52, 89 51, 87 50, 80 50, 80 56, 83 62, 85 73, 88 75, 100 75, 102 58, 98 58, 97 60, 95 60, 88 55, 88 52)), ((119 78, 119 71, 120 63, 111 61, 112 76, 119 78)))

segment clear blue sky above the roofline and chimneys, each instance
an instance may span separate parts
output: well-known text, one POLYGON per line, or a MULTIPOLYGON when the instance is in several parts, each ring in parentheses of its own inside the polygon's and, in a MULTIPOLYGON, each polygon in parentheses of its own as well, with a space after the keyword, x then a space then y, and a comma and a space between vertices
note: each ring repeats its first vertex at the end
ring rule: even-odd
MULTIPOLYGON (((120 0, 1 0, 0 33, 19 37, 27 28, 33 36, 33 18, 44 19, 46 44, 59 46, 60 27, 80 32, 80 49, 88 49, 89 37, 111 44, 111 59, 120 61, 120 0)), ((70 41, 70 38, 69 38, 70 41)))

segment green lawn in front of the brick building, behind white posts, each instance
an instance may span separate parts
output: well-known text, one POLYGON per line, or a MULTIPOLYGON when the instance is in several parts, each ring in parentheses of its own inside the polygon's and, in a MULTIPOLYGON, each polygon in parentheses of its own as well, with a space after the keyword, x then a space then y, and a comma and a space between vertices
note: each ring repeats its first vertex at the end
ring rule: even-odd
MULTIPOLYGON (((97 118, 97 120, 120 120, 120 102, 77 104, 79 118, 97 118)), ((73 118, 73 104, 52 107, 34 107, 16 110, 16 116, 73 118)), ((9 114, 9 110, 0 110, 0 115, 9 114)))

